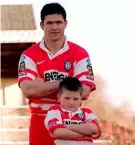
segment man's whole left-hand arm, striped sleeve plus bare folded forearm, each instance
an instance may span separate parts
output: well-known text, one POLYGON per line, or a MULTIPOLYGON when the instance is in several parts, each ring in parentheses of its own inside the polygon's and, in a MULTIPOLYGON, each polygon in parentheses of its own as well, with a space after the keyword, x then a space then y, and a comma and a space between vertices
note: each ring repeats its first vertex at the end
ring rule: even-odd
MULTIPOLYGON (((56 95, 59 82, 45 82, 39 78, 35 54, 32 49, 28 49, 20 57, 18 65, 18 84, 26 98, 31 97, 48 97, 56 95)), ((51 99, 51 98, 50 98, 51 99)))

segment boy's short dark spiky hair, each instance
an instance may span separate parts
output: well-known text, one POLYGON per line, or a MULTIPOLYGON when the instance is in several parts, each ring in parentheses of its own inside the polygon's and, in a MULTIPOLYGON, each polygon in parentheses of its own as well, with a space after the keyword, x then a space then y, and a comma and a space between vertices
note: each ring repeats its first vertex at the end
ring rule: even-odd
POLYGON ((59 93, 62 93, 64 89, 69 91, 80 91, 80 94, 82 95, 82 84, 75 77, 67 77, 60 82, 59 93))

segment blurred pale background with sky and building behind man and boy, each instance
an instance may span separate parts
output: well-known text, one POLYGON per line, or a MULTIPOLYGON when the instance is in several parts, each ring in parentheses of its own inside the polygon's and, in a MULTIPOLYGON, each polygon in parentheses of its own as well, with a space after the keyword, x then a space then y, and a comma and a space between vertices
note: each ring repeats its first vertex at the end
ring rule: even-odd
POLYGON ((97 90, 83 105, 102 128, 95 144, 135 145, 135 0, 1 0, 0 144, 28 144, 27 100, 17 85, 21 53, 43 37, 40 10, 60 2, 66 35, 91 57, 97 90))

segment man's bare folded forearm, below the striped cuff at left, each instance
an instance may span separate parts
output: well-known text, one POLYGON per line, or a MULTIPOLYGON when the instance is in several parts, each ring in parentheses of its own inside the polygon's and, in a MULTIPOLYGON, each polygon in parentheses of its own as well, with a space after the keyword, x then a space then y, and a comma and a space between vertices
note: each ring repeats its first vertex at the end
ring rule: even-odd
POLYGON ((48 97, 58 92, 59 81, 44 82, 37 80, 24 80, 20 83, 20 88, 26 98, 48 97))

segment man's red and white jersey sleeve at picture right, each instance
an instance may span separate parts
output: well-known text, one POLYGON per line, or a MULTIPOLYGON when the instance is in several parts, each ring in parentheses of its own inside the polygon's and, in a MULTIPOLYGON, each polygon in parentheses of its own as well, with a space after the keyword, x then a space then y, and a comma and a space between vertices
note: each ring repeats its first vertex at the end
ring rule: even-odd
POLYGON ((76 54, 76 61, 74 64, 74 76, 77 77, 82 84, 91 86, 91 91, 96 89, 94 81, 94 73, 90 57, 85 49, 79 49, 76 54))

